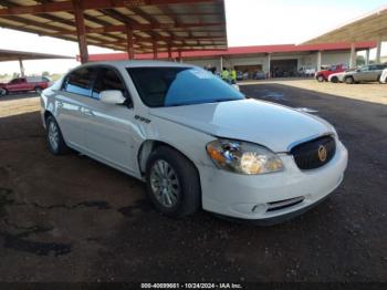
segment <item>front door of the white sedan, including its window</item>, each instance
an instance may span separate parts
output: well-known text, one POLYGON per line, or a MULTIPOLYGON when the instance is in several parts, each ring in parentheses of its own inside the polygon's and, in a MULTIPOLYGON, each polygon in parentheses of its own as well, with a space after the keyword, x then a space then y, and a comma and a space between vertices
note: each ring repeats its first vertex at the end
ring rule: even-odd
POLYGON ((88 117, 86 146, 90 154, 115 165, 125 172, 135 172, 133 152, 136 127, 129 92, 121 73, 112 66, 101 66, 94 83, 92 97, 85 102, 88 117), (106 104, 100 93, 118 90, 127 99, 125 104, 106 104))

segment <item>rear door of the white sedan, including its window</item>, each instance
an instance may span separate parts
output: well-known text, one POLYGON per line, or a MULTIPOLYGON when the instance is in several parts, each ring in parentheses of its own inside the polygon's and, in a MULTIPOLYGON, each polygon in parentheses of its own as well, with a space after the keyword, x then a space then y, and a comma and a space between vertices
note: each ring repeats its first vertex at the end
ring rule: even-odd
POLYGON ((56 120, 70 146, 85 149, 85 126, 88 122, 85 112, 86 101, 92 96, 96 76, 94 66, 82 66, 71 72, 63 81, 56 95, 56 120))

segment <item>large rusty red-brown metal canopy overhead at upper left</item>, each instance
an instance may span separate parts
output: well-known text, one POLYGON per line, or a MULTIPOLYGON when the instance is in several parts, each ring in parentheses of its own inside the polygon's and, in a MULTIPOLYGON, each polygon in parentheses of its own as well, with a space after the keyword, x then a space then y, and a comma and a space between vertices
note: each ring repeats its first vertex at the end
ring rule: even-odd
POLYGON ((223 0, 1 0, 0 27, 135 53, 227 49, 223 0))

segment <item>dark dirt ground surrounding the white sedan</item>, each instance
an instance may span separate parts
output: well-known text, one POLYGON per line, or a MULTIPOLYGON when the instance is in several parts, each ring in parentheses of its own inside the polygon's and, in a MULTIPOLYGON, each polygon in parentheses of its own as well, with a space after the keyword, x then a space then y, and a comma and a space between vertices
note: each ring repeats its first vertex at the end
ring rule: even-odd
POLYGON ((164 217, 136 179, 52 156, 38 97, 0 99, 0 281, 387 282, 387 106, 274 83, 242 91, 317 110, 349 151, 342 186, 282 225, 164 217))

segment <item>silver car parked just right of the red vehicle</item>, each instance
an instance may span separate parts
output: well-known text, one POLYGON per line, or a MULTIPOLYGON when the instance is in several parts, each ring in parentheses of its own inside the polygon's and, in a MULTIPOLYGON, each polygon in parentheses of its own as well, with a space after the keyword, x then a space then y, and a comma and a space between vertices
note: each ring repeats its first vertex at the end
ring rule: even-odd
POLYGON ((344 81, 347 84, 359 82, 378 82, 380 80, 383 70, 386 69, 386 64, 369 64, 364 65, 353 72, 347 72, 344 75, 344 81))

